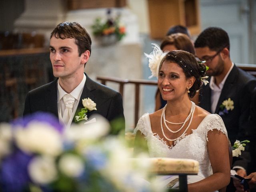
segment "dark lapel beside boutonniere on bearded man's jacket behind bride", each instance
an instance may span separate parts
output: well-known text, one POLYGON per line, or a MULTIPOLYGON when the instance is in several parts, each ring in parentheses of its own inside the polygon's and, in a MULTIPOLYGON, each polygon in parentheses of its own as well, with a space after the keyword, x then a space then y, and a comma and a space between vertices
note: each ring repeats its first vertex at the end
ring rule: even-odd
POLYGON ((222 88, 220 98, 218 100, 218 104, 217 104, 216 110, 215 110, 216 114, 219 113, 220 105, 222 104, 222 102, 230 97, 229 93, 234 88, 234 81, 236 80, 237 75, 238 75, 238 68, 234 65, 232 70, 230 71, 230 74, 228 75, 228 77, 226 79, 226 82, 224 83, 223 88, 222 88))

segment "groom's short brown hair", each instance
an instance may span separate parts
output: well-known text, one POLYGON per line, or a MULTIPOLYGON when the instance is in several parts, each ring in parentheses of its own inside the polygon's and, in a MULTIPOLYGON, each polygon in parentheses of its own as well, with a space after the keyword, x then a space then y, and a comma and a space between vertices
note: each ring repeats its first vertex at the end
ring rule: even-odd
POLYGON ((86 50, 91 53, 92 40, 88 32, 77 22, 63 22, 54 28, 51 33, 56 38, 74 38, 78 46, 78 54, 81 56, 86 50))

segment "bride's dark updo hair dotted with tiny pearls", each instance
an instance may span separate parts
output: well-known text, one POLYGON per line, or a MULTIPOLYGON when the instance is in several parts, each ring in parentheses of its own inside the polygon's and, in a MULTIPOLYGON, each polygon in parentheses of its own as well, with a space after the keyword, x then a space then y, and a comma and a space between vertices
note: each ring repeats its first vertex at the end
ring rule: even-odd
POLYGON ((187 79, 192 76, 196 78, 193 86, 189 89, 190 93, 188 93, 189 97, 193 98, 196 91, 202 86, 201 78, 205 75, 206 66, 203 63, 198 63, 193 54, 183 50, 174 50, 168 52, 162 59, 159 70, 161 69, 164 61, 178 64, 178 66, 183 69, 187 79))

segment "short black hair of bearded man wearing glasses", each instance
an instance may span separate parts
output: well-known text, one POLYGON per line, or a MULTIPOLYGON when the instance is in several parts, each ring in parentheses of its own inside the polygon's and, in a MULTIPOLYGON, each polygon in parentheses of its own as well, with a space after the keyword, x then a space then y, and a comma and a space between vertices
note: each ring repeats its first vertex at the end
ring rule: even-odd
POLYGON ((223 48, 230 49, 228 33, 219 27, 208 27, 199 34, 194 42, 195 48, 209 47, 210 50, 219 51, 223 48))

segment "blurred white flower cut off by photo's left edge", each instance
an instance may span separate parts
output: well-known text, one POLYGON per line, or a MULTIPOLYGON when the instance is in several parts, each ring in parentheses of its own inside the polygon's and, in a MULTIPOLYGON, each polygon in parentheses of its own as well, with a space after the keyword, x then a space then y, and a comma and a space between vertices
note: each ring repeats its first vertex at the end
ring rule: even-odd
POLYGON ((0 124, 0 159, 11 152, 12 128, 7 123, 0 124))

